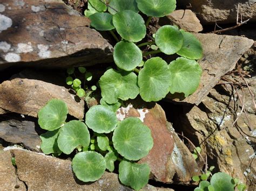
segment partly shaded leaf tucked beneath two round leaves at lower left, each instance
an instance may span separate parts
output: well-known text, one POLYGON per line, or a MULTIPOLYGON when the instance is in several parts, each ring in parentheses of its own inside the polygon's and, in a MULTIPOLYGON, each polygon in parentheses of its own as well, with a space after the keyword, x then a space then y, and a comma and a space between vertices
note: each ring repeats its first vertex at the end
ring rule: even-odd
POLYGON ((62 151, 59 150, 58 143, 57 143, 59 130, 60 129, 56 129, 54 131, 48 131, 40 136, 42 140, 40 147, 44 154, 55 153, 59 155, 62 153, 62 151))

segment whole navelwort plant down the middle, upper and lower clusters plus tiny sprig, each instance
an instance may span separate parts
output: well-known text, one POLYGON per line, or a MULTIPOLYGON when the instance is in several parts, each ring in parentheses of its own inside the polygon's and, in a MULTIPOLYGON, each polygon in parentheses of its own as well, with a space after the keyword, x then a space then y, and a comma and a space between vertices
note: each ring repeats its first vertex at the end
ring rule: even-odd
MULTIPOLYGON (((202 70, 196 60, 203 56, 203 49, 193 34, 165 25, 151 37, 154 40, 145 38, 152 17, 164 17, 175 9, 175 0, 88 1, 85 16, 91 19, 91 26, 109 31, 117 41, 113 52, 117 68, 107 69, 100 77, 102 100, 87 111, 85 123, 66 122, 68 107, 61 100, 49 101, 38 112, 39 125, 48 130, 41 135, 41 150, 56 156, 76 151, 72 169, 79 180, 96 181, 105 169, 113 172, 114 162, 119 162, 119 180, 124 185, 138 190, 148 182, 149 165, 136 162, 153 147, 151 131, 138 118, 118 121, 116 111, 121 101, 138 95, 146 102, 156 102, 169 93, 187 97, 199 86, 202 70), (142 15, 148 17, 146 22, 142 15), (180 57, 168 64, 152 57, 160 52, 180 57)), ((74 70, 67 70, 66 83, 84 97, 87 87, 74 70)), ((87 81, 91 79, 85 68, 78 70, 87 81)))

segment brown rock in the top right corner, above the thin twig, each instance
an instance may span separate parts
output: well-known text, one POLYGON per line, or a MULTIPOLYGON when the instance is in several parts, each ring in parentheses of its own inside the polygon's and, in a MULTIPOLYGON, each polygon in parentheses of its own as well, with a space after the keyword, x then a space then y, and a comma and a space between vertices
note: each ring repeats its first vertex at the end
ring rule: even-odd
POLYGON ((180 0, 178 5, 189 6, 193 12, 196 12, 202 23, 236 23, 237 10, 239 5, 239 19, 242 14, 242 20, 251 18, 256 20, 256 2, 248 1, 219 1, 219 0, 180 0))

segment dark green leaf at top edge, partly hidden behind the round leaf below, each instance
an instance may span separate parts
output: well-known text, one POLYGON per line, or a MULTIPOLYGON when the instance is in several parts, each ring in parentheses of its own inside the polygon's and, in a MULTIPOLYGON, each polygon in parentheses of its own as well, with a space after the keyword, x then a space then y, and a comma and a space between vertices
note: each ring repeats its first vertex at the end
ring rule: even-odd
POLYGON ((139 12, 137 3, 135 0, 111 0, 107 10, 112 14, 116 14, 117 12, 124 10, 132 10, 134 12, 139 12), (114 10, 113 10, 113 9, 114 10), (117 11, 117 12, 116 12, 117 11))

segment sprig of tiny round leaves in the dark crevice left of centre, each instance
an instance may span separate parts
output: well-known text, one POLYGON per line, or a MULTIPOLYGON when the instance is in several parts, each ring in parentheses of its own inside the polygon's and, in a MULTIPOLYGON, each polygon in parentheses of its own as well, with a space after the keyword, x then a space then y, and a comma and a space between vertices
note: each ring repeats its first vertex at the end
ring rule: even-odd
MULTIPOLYGON (((84 83, 82 84, 82 81, 76 77, 76 68, 75 67, 70 67, 66 70, 68 73, 68 77, 66 77, 66 84, 72 87, 73 90, 76 91, 77 95, 79 97, 84 97, 85 96, 85 90, 88 89, 89 87, 85 84, 86 81, 91 81, 92 80, 92 73, 86 72, 85 67, 78 67, 78 71, 81 74, 84 74, 84 83), (75 79, 73 79, 73 77, 75 79)), ((91 90, 96 90, 96 86, 92 86, 91 90)))

